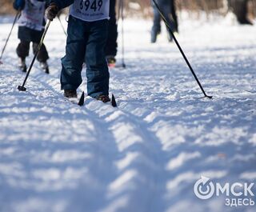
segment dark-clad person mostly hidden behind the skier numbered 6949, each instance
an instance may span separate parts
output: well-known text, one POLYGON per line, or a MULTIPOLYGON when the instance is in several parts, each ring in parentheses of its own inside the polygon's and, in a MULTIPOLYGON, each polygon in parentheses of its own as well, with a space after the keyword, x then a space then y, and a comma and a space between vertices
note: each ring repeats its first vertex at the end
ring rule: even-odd
POLYGON ((118 52, 118 25, 115 13, 116 0, 110 0, 110 20, 109 20, 109 32, 106 41, 106 60, 108 66, 115 66, 116 55, 118 52))

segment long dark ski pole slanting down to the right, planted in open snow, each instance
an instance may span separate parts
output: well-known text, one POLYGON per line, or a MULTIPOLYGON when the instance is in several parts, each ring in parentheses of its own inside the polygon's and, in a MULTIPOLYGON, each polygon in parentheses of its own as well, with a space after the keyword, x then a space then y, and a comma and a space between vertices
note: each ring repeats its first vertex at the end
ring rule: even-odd
POLYGON ((161 15, 163 22, 165 22, 166 27, 170 30, 170 34, 171 34, 172 37, 174 38, 174 42, 175 42, 176 45, 178 46, 178 50, 180 50, 180 52, 181 52, 183 58, 185 59, 186 65, 189 66, 190 71, 192 72, 192 74, 193 74, 195 80, 198 82, 198 86, 199 86, 200 89, 202 90, 202 93, 203 93, 203 94, 205 95, 205 97, 207 97, 207 98, 213 98, 212 96, 208 96, 208 95, 206 94, 205 90, 203 90, 203 87, 202 87, 201 83, 199 82, 197 75, 194 73, 194 70, 193 70, 192 66, 190 65, 190 62, 189 62, 188 59, 186 58, 186 55, 185 55, 185 53, 183 52, 182 47, 179 45, 178 40, 175 38, 174 33, 173 33, 173 31, 171 30, 170 24, 166 21, 166 18, 165 18, 165 16, 162 14, 162 11, 160 10, 160 8, 159 8, 157 2, 155 2, 155 0, 153 0, 153 2, 154 2, 154 5, 156 6, 156 8, 157 8, 157 10, 158 10, 158 13, 161 15))

